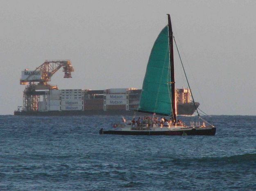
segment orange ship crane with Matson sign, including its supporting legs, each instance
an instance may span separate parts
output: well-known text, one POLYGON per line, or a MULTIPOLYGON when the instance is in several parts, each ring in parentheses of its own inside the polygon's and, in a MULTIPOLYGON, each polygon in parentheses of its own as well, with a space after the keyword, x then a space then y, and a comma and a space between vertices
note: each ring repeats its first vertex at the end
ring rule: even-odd
POLYGON ((72 78, 71 72, 75 71, 70 60, 45 60, 43 64, 33 71, 25 69, 21 71, 20 84, 27 85, 23 92, 23 111, 38 111, 40 96, 46 99, 46 94, 57 86, 48 84, 51 77, 59 69, 63 68, 64 77, 72 78), (35 84, 35 82, 38 82, 35 84))

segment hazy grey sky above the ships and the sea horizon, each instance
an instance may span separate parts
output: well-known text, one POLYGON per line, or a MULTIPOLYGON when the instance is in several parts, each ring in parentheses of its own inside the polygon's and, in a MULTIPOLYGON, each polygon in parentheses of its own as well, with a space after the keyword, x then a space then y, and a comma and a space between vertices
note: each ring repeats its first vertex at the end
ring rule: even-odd
MULTIPOLYGON (((0 0, 0 114, 23 103, 25 68, 70 59, 59 89, 142 87, 154 40, 170 13, 199 108, 256 115, 255 0, 0 0)), ((187 87, 175 54, 177 87, 187 87)))

